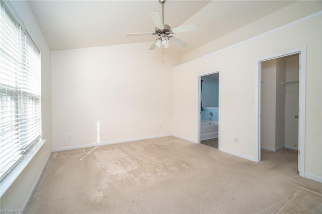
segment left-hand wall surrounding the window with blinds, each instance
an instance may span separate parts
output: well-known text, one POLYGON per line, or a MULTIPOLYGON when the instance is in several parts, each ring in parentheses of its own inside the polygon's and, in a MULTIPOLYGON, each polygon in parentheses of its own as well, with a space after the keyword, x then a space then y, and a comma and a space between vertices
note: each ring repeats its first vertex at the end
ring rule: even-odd
MULTIPOLYGON (((1 197, 0 209, 23 209, 51 153, 51 71, 50 50, 27 1, 12 1, 25 27, 41 50, 41 117, 42 139, 46 143, 1 197)), ((6 178, 5 178, 6 179, 6 178)))

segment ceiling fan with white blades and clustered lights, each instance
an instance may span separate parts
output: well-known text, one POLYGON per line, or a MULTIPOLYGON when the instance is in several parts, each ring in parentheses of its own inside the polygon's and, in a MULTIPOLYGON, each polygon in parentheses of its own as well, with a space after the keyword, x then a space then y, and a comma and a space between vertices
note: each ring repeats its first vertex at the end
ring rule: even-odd
POLYGON ((146 36, 146 35, 157 35, 159 36, 156 38, 149 48, 149 50, 154 50, 155 47, 161 47, 163 45, 165 48, 169 47, 169 40, 176 43, 180 47, 184 48, 188 44, 184 41, 174 37, 170 36, 170 34, 176 34, 176 33, 182 33, 187 31, 194 31, 199 29, 198 24, 192 24, 192 25, 186 25, 181 26, 177 28, 171 29, 169 25, 164 24, 164 4, 166 0, 159 0, 159 3, 162 4, 162 19, 160 18, 160 15, 158 13, 150 13, 150 16, 155 24, 155 32, 154 33, 132 33, 132 34, 126 34, 126 36, 146 36))

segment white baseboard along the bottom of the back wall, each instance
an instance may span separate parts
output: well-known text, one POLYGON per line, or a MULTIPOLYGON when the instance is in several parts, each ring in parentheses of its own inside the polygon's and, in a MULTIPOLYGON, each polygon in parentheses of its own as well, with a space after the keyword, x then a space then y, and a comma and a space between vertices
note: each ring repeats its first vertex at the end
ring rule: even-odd
POLYGON ((107 141, 107 142, 101 142, 101 143, 84 144, 84 145, 78 145, 78 146, 60 147, 60 148, 52 149, 52 152, 59 152, 59 151, 72 150, 72 149, 83 149, 83 148, 88 148, 88 147, 95 147, 95 146, 102 146, 102 145, 109 145, 109 144, 116 144, 116 143, 126 143, 126 142, 131 142, 131 141, 146 140, 146 139, 151 139, 151 138, 162 138, 162 137, 169 137, 169 136, 172 136, 172 135, 171 134, 154 135, 154 136, 141 137, 141 138, 131 138, 131 139, 123 139, 123 140, 117 140, 117 141, 107 141))

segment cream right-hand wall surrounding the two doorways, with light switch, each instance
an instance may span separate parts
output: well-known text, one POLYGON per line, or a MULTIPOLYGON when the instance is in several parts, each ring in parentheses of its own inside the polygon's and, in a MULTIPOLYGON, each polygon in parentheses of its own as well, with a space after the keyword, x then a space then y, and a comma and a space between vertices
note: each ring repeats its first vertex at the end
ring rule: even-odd
MULTIPOLYGON (((317 4, 321 6, 320 2, 317 4)), ((280 13, 265 17, 262 19, 263 24, 268 20, 280 23, 284 16, 293 16, 294 12, 299 10, 311 12, 310 7, 302 7, 301 4, 297 5, 296 10, 293 10, 294 7, 292 4, 280 13)), ((261 23, 261 20, 257 23, 261 23)), ((173 134, 197 142, 198 75, 220 69, 221 150, 256 160, 255 105, 249 103, 249 97, 255 96, 256 61, 306 46, 304 174, 322 181, 321 23, 319 15, 173 68, 173 82, 177 82, 173 85, 172 93, 173 134), (233 142, 234 137, 238 138, 237 144, 233 142)), ((246 26, 234 33, 235 36, 243 35, 247 34, 248 30, 246 26)), ((199 53, 197 50, 195 56, 199 53)), ((192 55, 194 54, 189 54, 190 57, 192 55)))

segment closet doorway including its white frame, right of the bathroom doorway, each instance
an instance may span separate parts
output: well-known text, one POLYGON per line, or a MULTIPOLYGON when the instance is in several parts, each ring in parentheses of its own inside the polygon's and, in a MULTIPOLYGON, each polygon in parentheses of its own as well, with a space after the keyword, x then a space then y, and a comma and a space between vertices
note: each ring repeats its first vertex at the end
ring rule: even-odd
POLYGON ((306 47, 257 61, 256 156, 261 149, 298 150, 298 171, 304 176, 306 47))

